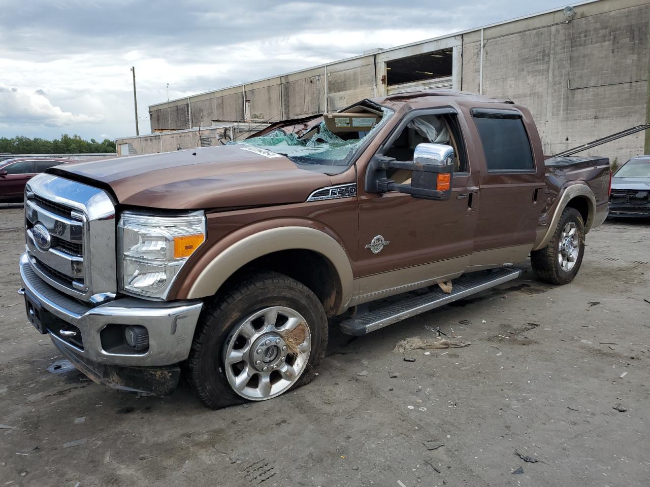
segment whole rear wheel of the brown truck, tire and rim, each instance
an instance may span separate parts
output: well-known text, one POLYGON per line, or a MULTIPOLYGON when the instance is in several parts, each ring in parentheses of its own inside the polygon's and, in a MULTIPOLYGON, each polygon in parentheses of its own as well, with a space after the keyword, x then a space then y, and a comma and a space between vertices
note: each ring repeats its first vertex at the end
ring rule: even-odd
POLYGON ((575 208, 566 208, 549 245, 530 253, 530 264, 540 281, 567 284, 580 270, 584 256, 584 222, 575 208))

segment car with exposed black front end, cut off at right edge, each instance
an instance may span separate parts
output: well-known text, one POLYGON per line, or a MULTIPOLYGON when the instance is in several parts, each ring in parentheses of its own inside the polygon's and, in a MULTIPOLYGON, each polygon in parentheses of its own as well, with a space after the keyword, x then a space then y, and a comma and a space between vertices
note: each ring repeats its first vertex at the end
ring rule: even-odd
POLYGON ((650 155, 632 157, 612 176, 610 216, 650 217, 650 155))

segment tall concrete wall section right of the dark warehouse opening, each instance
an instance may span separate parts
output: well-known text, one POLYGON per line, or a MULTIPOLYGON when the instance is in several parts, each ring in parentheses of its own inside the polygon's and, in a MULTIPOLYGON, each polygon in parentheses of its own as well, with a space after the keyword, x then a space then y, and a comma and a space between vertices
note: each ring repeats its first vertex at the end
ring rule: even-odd
MULTIPOLYGON (((645 121, 650 5, 600 1, 484 31, 483 84, 532 111, 547 154, 645 121)), ((478 91, 480 31, 465 35, 463 90, 478 91)), ((643 153, 643 132, 586 151, 643 153)))

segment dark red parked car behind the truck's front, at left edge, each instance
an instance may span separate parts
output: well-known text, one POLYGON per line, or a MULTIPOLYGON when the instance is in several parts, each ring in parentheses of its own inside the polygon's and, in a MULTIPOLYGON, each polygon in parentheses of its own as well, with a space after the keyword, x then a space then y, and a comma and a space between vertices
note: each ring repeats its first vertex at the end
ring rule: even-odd
POLYGON ((38 173, 65 162, 75 162, 60 158, 6 159, 0 162, 0 201, 14 203, 23 201, 25 183, 38 173))

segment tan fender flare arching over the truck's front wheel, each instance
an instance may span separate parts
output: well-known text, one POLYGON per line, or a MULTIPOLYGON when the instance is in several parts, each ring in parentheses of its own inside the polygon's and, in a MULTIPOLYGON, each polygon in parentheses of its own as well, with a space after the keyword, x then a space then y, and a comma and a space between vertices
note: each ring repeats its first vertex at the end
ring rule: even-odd
POLYGON ((187 299, 214 295, 231 275, 249 262, 270 253, 293 249, 313 251, 330 261, 341 287, 337 299, 339 312, 344 310, 352 299, 354 287, 350 258, 341 244, 325 232, 296 226, 259 231, 227 247, 201 270, 187 299))

